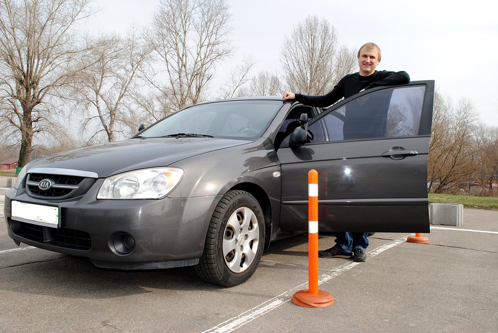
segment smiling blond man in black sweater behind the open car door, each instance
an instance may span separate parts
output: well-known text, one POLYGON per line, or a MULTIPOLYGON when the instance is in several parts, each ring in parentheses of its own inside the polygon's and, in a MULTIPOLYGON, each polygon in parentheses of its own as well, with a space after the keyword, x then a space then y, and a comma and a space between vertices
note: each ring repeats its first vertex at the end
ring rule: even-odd
MULTIPOLYGON (((283 100, 297 100, 312 107, 328 107, 342 98, 348 98, 361 91, 379 86, 402 85, 410 82, 406 72, 376 71, 380 62, 380 48, 374 43, 366 43, 358 51, 357 73, 348 74, 323 96, 308 96, 285 92, 283 100)), ((318 255, 324 258, 351 258, 355 261, 367 260, 365 251, 369 246, 368 232, 336 232, 336 244, 318 255)))

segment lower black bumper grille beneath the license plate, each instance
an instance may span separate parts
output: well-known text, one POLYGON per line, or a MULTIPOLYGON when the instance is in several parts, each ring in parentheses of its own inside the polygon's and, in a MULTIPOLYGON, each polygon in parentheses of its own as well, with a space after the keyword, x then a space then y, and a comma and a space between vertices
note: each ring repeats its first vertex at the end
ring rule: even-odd
POLYGON ((90 234, 85 231, 51 228, 24 222, 18 223, 20 228, 16 228, 17 232, 15 233, 29 240, 74 250, 87 251, 92 247, 90 234))

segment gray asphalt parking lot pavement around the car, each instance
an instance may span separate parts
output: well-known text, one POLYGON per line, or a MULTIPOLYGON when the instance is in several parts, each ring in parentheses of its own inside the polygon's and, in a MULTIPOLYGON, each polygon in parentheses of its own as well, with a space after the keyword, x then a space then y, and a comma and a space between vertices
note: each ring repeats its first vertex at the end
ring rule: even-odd
POLYGON ((17 247, 2 222, 0 332, 498 332, 498 211, 463 212, 461 226, 431 226, 429 244, 382 232, 366 262, 320 258, 319 289, 334 297, 320 309, 290 302, 308 288, 307 235, 272 243, 249 281, 219 288, 190 267, 103 270, 17 247))

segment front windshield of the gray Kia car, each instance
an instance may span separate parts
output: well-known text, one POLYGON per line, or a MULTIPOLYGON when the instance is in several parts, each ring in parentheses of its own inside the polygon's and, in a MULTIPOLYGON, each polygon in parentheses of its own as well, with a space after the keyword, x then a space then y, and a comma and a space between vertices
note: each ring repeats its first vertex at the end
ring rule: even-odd
POLYGON ((259 137, 281 108, 280 101, 223 101, 178 111, 140 132, 140 137, 259 137))

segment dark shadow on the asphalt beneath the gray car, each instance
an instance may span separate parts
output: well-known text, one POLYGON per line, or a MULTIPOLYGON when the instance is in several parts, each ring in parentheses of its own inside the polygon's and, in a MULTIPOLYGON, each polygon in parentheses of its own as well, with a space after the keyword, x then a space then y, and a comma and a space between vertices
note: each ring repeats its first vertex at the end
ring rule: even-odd
MULTIPOLYGON (((270 248, 263 253, 262 260, 267 255, 275 254, 306 257, 306 250, 293 249, 307 249, 307 241, 307 234, 301 234, 272 242, 270 248)), ((109 299, 146 294, 157 289, 171 292, 232 292, 229 289, 233 289, 203 281, 197 276, 193 266, 125 271, 98 268, 86 258, 68 255, 54 257, 52 252, 47 254, 50 255, 46 260, 39 258, 35 262, 2 269, 4 278, 0 280, 0 289, 15 293, 79 299, 109 299)))

